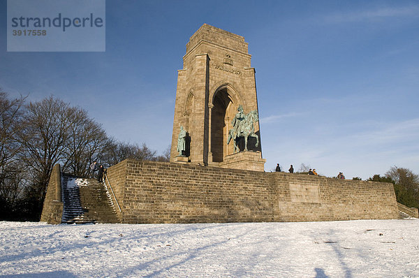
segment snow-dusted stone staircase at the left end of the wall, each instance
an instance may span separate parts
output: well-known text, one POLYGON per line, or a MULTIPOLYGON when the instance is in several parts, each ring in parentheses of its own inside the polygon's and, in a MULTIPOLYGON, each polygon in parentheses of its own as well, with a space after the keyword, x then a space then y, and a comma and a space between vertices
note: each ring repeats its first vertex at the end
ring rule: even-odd
POLYGON ((105 184, 95 179, 62 175, 62 223, 119 223, 105 184))

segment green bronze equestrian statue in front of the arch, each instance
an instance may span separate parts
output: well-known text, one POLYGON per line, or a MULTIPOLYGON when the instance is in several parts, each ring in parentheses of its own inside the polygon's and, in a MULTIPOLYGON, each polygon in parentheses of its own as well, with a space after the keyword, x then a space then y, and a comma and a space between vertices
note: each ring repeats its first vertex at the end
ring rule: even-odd
POLYGON ((234 142, 234 153, 236 153, 237 149, 240 152, 239 147, 237 147, 237 140, 240 137, 244 138, 244 150, 247 151, 247 139, 250 137, 256 138, 256 147, 259 145, 259 138, 258 135, 254 132, 253 124, 258 122, 258 110, 252 110, 248 114, 244 114, 243 106, 239 105, 237 108, 237 114, 235 115, 231 124, 233 125, 233 129, 228 131, 228 139, 227 145, 230 143, 230 140, 233 139, 234 142))

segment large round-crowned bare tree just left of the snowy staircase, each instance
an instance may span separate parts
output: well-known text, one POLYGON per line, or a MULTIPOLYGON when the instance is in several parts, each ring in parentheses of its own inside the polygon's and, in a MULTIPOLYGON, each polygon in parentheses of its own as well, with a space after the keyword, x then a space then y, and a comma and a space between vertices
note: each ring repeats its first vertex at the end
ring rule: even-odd
POLYGON ((32 180, 26 197, 33 206, 34 217, 41 215, 52 167, 59 162, 66 164, 68 139, 77 112, 76 108, 53 97, 26 107, 19 140, 24 146, 22 161, 32 180))

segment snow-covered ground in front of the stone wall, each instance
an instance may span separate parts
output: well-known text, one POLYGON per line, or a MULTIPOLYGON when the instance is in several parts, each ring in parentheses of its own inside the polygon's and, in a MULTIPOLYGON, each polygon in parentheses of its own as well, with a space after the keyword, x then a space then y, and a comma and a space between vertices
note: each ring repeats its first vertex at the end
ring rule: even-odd
POLYGON ((0 277, 419 277, 419 219, 0 222, 0 277))

